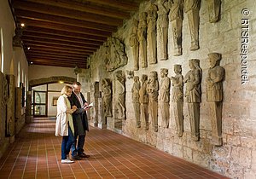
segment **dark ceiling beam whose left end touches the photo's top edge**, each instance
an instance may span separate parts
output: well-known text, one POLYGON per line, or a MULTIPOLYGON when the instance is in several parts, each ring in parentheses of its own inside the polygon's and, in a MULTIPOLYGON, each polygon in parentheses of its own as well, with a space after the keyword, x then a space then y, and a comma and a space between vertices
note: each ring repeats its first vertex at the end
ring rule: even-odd
POLYGON ((30 10, 38 13, 58 15, 62 17, 77 19, 77 20, 86 20, 86 21, 106 24, 110 26, 121 26, 123 24, 123 20, 113 18, 113 17, 108 17, 105 15, 92 14, 92 13, 82 12, 82 11, 73 10, 73 9, 64 9, 61 7, 49 6, 49 5, 40 4, 40 3, 32 3, 32 2, 27 3, 26 1, 23 1, 23 0, 12 1, 12 6, 14 7, 14 9, 30 10))

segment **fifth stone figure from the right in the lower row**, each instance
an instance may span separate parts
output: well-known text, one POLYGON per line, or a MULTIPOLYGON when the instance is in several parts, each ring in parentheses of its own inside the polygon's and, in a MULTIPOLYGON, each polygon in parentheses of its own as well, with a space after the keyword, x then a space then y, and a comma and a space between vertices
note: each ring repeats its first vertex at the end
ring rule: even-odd
POLYGON ((158 131, 158 90, 159 83, 157 78, 157 72, 150 72, 148 78, 148 111, 152 119, 152 124, 154 127, 154 131, 158 131))

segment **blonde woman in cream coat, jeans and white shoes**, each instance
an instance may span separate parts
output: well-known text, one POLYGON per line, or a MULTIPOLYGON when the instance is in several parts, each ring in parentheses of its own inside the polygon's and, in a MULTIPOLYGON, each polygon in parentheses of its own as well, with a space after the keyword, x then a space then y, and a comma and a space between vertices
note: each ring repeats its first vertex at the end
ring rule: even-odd
POLYGON ((61 96, 57 101, 57 119, 55 125, 55 136, 62 136, 61 163, 71 164, 68 153, 74 142, 72 113, 77 110, 76 106, 71 108, 68 98, 72 94, 72 87, 65 85, 61 90, 61 96))

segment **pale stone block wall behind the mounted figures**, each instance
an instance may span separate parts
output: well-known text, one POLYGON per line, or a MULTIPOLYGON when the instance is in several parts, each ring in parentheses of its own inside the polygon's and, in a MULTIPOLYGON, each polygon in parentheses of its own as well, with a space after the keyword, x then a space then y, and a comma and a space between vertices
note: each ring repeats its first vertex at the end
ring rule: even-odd
MULTIPOLYGON (((172 112, 172 103, 170 103, 170 123, 169 128, 159 126, 158 132, 154 131, 152 119, 149 117, 149 129, 137 128, 134 108, 131 101, 131 88, 133 79, 125 79, 125 116, 122 121, 121 133, 137 141, 142 141, 148 145, 159 148, 166 153, 170 153, 182 159, 189 160, 197 165, 207 167, 210 170, 217 171, 224 176, 232 178, 255 178, 256 177, 256 14, 255 2, 253 0, 223 0, 221 3, 220 20, 215 23, 209 22, 208 3, 210 1, 201 1, 200 26, 199 26, 199 46, 200 49, 191 51, 190 34, 187 14, 183 14, 182 45, 183 54, 174 56, 172 28, 169 24, 167 38, 167 59, 160 61, 160 53, 157 50, 157 63, 149 64, 145 68, 139 67, 134 71, 134 75, 140 79, 143 74, 149 75, 149 72, 158 72, 160 79, 160 69, 169 70, 168 77, 174 76, 174 64, 180 64, 183 68, 183 76, 189 72, 189 59, 199 59, 202 69, 201 80, 201 111, 200 111, 200 140, 193 141, 190 137, 190 124, 187 102, 183 104, 183 136, 177 136, 174 114, 172 112), (243 10, 242 10, 243 9, 243 10), (246 14, 246 10, 250 14, 246 14), (242 14, 243 13, 243 14, 242 14), (244 20, 242 20, 244 19, 244 20), (249 23, 248 23, 249 21, 249 23), (242 25, 243 23, 243 25, 242 25), (249 25, 249 30, 246 27, 249 25), (242 28, 244 27, 244 28, 242 28), (241 33, 243 31, 243 33, 241 33), (249 32, 249 33, 246 33, 249 32), (241 39, 243 35, 249 37, 241 39), (242 46, 242 42, 247 46, 242 46), (247 61, 241 61, 241 50, 247 54, 247 61), (212 126, 209 103, 206 95, 206 78, 209 68, 207 55, 217 52, 222 55, 220 66, 224 67, 224 101, 222 115, 222 136, 223 145, 216 147, 212 145, 212 126), (243 62, 243 66, 241 66, 243 62), (247 67, 245 69, 244 67, 247 67), (242 74, 243 72, 243 74, 242 74), (248 75, 247 73, 248 72, 248 75), (242 84, 241 78, 248 78, 248 81, 242 84)), ((154 3, 156 3, 154 1, 154 3)), ((138 20, 139 13, 147 11, 150 2, 145 1, 141 4, 139 12, 133 15, 138 20)), ((125 66, 114 69, 113 72, 106 70, 106 50, 107 46, 102 46, 94 55, 90 57, 90 75, 91 83, 100 82, 100 91, 102 91, 102 79, 110 78, 114 81, 113 74, 119 70, 123 72, 133 71, 134 59, 129 42, 132 20, 126 20, 125 25, 119 28, 118 32, 113 34, 125 44, 125 53, 128 56, 128 62, 125 66)), ((157 34, 157 48, 160 48, 159 34, 157 34)), ((149 47, 147 47, 149 50, 149 47)), ((148 51, 147 50, 147 51, 148 51)), ((107 67, 108 68, 108 67, 107 67)), ((84 74, 85 75, 85 74, 84 74)), ((90 85, 88 84, 88 85, 90 85)), ((104 94, 102 94, 104 95, 104 94)), ((115 94, 113 94, 114 96, 115 94)), ((172 87, 171 87, 172 95, 172 87)), ((112 102, 113 106, 113 102, 112 102)), ((113 107, 114 110, 114 107, 113 107)), ((115 113, 113 111, 113 113, 115 113)), ((114 121, 116 118, 108 117, 108 130, 114 130, 114 121)), ((99 118, 99 121, 102 119, 99 118)), ((158 107, 158 121, 161 123, 160 107, 158 107)))

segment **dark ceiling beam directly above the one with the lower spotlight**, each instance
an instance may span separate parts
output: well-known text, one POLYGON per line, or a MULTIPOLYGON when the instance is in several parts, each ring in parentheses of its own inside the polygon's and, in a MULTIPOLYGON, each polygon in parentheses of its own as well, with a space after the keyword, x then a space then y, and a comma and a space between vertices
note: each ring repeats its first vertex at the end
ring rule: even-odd
POLYGON ((77 51, 77 52, 95 52, 96 49, 87 49, 87 48, 73 48, 73 47, 70 47, 68 45, 53 45, 53 44, 49 44, 49 43, 32 43, 32 42, 26 42, 26 41, 23 41, 25 47, 31 47, 33 48, 34 46, 36 47, 45 47, 45 48, 53 48, 53 49, 70 49, 70 50, 73 50, 73 51, 77 51))

